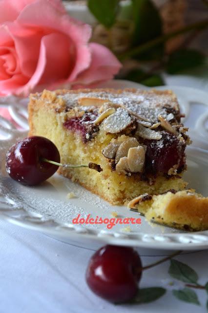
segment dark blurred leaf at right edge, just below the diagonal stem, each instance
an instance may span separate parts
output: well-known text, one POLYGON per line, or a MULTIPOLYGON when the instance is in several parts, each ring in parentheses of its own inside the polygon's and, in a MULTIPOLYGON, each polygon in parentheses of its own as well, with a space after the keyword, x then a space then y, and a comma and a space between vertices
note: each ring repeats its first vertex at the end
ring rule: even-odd
POLYGON ((173 52, 169 56, 166 71, 169 74, 175 74, 186 69, 203 65, 206 57, 200 51, 194 49, 182 49, 173 52))

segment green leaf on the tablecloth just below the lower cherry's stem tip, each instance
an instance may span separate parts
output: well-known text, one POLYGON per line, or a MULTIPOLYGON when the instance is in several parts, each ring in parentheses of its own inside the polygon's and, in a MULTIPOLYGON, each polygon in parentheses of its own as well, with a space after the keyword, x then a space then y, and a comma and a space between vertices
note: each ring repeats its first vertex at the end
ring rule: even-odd
POLYGON ((190 268, 188 265, 176 261, 170 260, 170 267, 168 273, 171 277, 176 278, 185 283, 196 283, 198 280, 198 275, 194 269, 190 268))

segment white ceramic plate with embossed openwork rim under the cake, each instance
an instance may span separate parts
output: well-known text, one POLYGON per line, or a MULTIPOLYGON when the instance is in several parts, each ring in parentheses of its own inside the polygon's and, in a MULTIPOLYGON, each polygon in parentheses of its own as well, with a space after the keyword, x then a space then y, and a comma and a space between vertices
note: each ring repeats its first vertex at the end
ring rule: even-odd
MULTIPOLYGON (((111 81, 104 87, 124 88, 141 85, 127 81, 111 81)), ((144 87, 143 87, 144 88, 144 87)), ((158 89, 167 89, 160 87, 158 89)), ((190 186, 208 196, 208 97, 203 91, 182 87, 168 87, 178 96, 179 103, 187 118, 185 124, 190 127, 193 145, 187 148, 188 171, 185 179, 190 186)), ((8 222, 44 232, 64 242, 96 247, 102 243, 125 246, 140 246, 157 249, 202 249, 208 247, 208 231, 188 233, 172 228, 148 224, 141 217, 141 225, 131 225, 131 231, 125 232, 126 225, 115 225, 107 229, 101 225, 75 225, 72 219, 78 214, 86 218, 112 218, 111 212, 118 216, 139 218, 139 214, 124 206, 112 206, 98 196, 91 194, 79 184, 59 175, 54 175, 42 185, 26 187, 10 179, 5 172, 5 154, 8 148, 27 134, 26 100, 15 97, 1 100, 0 106, 9 107, 10 114, 21 130, 10 122, 0 118, 0 218, 8 222), (69 192, 77 196, 67 199, 69 192)))

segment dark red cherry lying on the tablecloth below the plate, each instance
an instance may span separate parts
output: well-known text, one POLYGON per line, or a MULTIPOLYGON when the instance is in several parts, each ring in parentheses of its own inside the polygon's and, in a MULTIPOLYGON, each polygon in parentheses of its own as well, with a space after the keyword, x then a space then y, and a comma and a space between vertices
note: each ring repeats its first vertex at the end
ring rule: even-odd
POLYGON ((121 303, 136 295, 141 275, 141 259, 133 248, 104 246, 91 257, 86 282, 98 296, 121 303))

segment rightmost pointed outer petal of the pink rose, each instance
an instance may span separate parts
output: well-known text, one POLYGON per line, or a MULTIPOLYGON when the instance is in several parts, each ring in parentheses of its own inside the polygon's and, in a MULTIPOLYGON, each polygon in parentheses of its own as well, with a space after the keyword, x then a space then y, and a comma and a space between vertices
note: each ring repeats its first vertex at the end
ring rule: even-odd
POLYGON ((103 45, 91 43, 91 64, 76 79, 75 84, 91 84, 113 78, 122 64, 112 52, 103 45))

